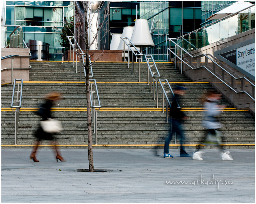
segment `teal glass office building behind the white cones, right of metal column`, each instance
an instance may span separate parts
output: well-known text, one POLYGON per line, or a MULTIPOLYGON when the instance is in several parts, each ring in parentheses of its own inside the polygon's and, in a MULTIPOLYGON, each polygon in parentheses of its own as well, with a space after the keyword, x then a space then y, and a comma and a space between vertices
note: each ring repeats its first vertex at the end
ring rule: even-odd
POLYGON ((136 5, 138 19, 147 19, 149 28, 153 23, 151 34, 155 46, 148 49, 148 54, 156 62, 167 61, 166 37, 176 38, 201 27, 200 1, 117 1, 110 3, 111 33, 122 33, 124 26, 134 26, 136 5))

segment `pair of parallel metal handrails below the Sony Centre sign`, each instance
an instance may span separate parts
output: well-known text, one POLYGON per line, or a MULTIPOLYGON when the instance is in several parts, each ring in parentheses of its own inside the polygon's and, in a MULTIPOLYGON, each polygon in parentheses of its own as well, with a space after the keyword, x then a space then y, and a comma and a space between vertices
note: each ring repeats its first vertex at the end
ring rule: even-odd
MULTIPOLYGON (((198 58, 198 57, 206 57, 207 59, 210 59, 210 61, 212 63, 214 63, 215 65, 217 65, 219 68, 221 68, 223 71, 225 71, 227 74, 229 74, 231 77, 233 77, 234 79, 245 79, 247 80, 252 86, 255 87, 255 85, 250 82, 247 78, 245 77, 239 77, 239 78, 236 78, 234 77, 232 74, 230 74, 227 70, 225 70, 224 68, 222 68, 220 65, 218 65, 215 61, 213 61, 210 57, 208 57, 206 54, 202 53, 202 54, 199 54, 199 55, 196 55, 196 56, 192 56, 189 52, 187 52, 185 49, 183 49, 181 46, 179 46, 177 43, 175 43, 172 39, 168 38, 169 41, 171 41, 172 43, 175 44, 175 47, 178 46, 181 50, 183 50, 186 54, 188 54, 191 58, 198 58)), ((199 66, 199 67, 196 67, 196 68, 193 68, 192 66, 190 66, 188 63, 186 63, 182 58, 180 58, 176 53, 174 53, 171 49, 169 49, 167 47, 167 49, 172 52, 180 61, 184 62, 188 67, 190 67, 191 69, 195 70, 195 69, 200 69, 200 68, 205 68, 206 70, 208 70, 212 75, 214 75, 217 79, 219 79, 222 83, 224 83, 226 86, 228 86, 231 90, 233 90, 234 92, 236 93, 246 93, 250 98, 252 98, 254 101, 255 99, 249 94, 247 93, 246 91, 236 91, 234 90, 231 86, 229 86, 225 81, 223 81, 222 79, 220 79, 215 73, 213 73, 211 70, 209 70, 206 66, 199 66)), ((182 56, 181 56, 182 57, 182 56)), ((182 68, 182 67, 181 67, 182 68)))

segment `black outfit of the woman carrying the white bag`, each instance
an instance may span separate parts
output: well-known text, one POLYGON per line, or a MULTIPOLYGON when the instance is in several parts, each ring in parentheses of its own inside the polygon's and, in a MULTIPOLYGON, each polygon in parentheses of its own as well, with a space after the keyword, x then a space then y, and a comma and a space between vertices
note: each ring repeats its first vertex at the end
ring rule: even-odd
MULTIPOLYGON (((39 107, 39 111, 36 113, 40 116, 42 116, 42 121, 46 121, 47 118, 52 118, 51 116, 51 107, 52 107, 52 101, 47 100, 44 104, 41 104, 39 107)), ((35 137, 40 140, 53 140, 54 136, 51 133, 46 133, 41 125, 36 130, 35 137)))

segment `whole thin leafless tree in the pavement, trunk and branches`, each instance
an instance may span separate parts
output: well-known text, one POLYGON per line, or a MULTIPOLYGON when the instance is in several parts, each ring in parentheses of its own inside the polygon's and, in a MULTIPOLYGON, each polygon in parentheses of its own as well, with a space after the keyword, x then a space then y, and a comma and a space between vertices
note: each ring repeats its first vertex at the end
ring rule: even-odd
MULTIPOLYGON (((106 36, 109 34, 107 24, 109 23, 110 2, 106 1, 74 1, 74 30, 71 31, 75 38, 78 40, 79 46, 84 50, 75 49, 76 54, 78 54, 82 65, 85 67, 86 71, 86 97, 87 97, 87 128, 88 128, 88 160, 89 160, 89 171, 94 172, 93 166, 93 153, 92 153, 92 125, 91 125, 91 102, 90 102, 90 82, 89 82, 89 70, 90 66, 97 60, 94 57, 94 62, 90 64, 89 61, 89 50, 92 54, 98 49, 99 43, 101 42, 101 54, 105 49, 106 36), (99 13, 101 15, 99 15, 99 13), (96 27, 96 29, 93 29, 96 27), (89 34, 91 35, 89 37, 89 34), (91 49, 90 49, 91 48, 91 49), (93 48, 93 49, 92 49, 93 48), (82 55, 85 53, 86 61, 83 62, 82 55)), ((56 10, 55 10, 56 12, 56 10)), ((56 28, 56 27, 55 27, 56 28)), ((56 28, 57 29, 57 28, 56 28)), ((101 55, 100 54, 100 55, 101 55)))

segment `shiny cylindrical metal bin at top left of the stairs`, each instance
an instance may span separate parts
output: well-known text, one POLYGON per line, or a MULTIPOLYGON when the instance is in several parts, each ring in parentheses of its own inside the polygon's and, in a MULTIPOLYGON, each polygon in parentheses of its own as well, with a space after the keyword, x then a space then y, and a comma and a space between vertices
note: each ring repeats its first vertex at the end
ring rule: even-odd
POLYGON ((30 60, 49 61, 49 43, 39 40, 28 40, 28 47, 31 53, 30 60))

